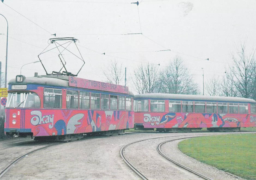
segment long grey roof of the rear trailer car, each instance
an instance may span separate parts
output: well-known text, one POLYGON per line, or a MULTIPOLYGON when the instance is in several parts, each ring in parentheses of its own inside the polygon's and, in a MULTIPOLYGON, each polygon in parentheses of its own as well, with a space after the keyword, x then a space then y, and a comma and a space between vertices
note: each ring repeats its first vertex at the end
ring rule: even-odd
POLYGON ((225 97, 225 96, 203 96, 203 95, 187 95, 187 94, 165 94, 165 93, 147 93, 137 94, 134 98, 148 98, 148 99, 177 99, 177 100, 202 100, 202 101, 237 101, 256 103, 253 99, 240 97, 225 97))

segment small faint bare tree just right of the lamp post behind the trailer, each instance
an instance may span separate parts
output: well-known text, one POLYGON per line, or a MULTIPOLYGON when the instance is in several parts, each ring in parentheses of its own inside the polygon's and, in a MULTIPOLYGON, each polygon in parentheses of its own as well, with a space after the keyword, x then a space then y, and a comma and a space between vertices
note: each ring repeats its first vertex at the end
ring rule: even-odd
POLYGON ((207 80, 205 85, 205 90, 208 95, 210 96, 218 96, 221 94, 222 85, 219 80, 219 77, 211 77, 209 80, 207 80))

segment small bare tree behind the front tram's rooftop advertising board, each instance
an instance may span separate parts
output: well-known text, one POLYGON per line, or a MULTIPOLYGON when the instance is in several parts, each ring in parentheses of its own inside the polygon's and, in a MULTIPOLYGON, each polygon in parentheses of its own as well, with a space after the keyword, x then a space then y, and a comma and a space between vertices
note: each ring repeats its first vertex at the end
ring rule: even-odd
POLYGON ((111 61, 111 64, 107 67, 103 74, 108 79, 108 83, 112 84, 120 84, 124 77, 124 69, 122 64, 118 64, 117 61, 111 61))

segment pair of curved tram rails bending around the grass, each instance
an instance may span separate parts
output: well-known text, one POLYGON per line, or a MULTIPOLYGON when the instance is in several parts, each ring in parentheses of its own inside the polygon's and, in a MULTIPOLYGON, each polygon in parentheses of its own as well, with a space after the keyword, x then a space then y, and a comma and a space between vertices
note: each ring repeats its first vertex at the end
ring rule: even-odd
MULTIPOLYGON (((223 134, 241 134, 240 132, 236 132, 236 133, 223 133, 223 134)), ((194 138, 194 137, 200 137, 200 136, 211 136, 211 135, 222 135, 222 133, 209 133, 209 134, 201 134, 201 133, 197 133, 197 134, 185 134, 185 135, 175 135, 175 136, 162 136, 162 137, 155 137, 155 138, 148 138, 148 139, 143 139, 143 140, 139 140, 139 141, 135 141, 135 142, 132 142, 132 143, 129 143, 125 146, 123 146, 120 150, 120 156, 121 158, 123 159, 123 161, 127 164, 127 166, 130 167, 130 169, 132 169, 141 179, 148 179, 147 176, 145 174, 143 174, 141 171, 138 170, 137 167, 135 167, 135 165, 133 165, 129 160, 128 158, 125 156, 124 154, 124 151, 125 149, 132 145, 132 144, 135 144, 135 143, 138 143, 138 142, 142 142, 142 141, 147 141, 147 140, 152 140, 152 139, 159 139, 159 138, 168 138, 168 137, 180 137, 180 136, 183 136, 183 137, 180 137, 180 138, 175 138, 175 139, 172 139, 172 140, 167 140, 167 141, 164 141, 164 142, 161 142, 160 144, 157 145, 157 151, 158 153, 164 157, 165 159, 167 159, 169 162, 175 164, 176 166, 186 170, 187 172, 190 172, 190 173, 193 173, 194 175, 200 177, 200 178, 203 178, 203 179, 206 179, 206 180, 212 180, 211 178, 208 178, 207 176, 204 176, 203 174, 200 174, 199 172, 196 172, 192 169, 190 169, 189 167, 186 167, 180 163, 178 163, 177 161, 167 157, 165 154, 163 154, 163 152, 161 151, 161 145, 167 143, 167 142, 172 142, 172 141, 176 141, 176 140, 182 140, 182 139, 189 139, 189 138, 194 138), (184 136, 189 136, 189 137, 184 137, 184 136)))

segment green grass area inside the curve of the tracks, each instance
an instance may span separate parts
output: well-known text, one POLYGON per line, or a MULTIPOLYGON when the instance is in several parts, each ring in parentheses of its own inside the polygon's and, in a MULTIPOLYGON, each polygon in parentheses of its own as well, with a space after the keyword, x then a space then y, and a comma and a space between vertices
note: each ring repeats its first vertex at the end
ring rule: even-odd
POLYGON ((184 154, 245 179, 256 179, 256 134, 203 136, 181 141, 184 154))

